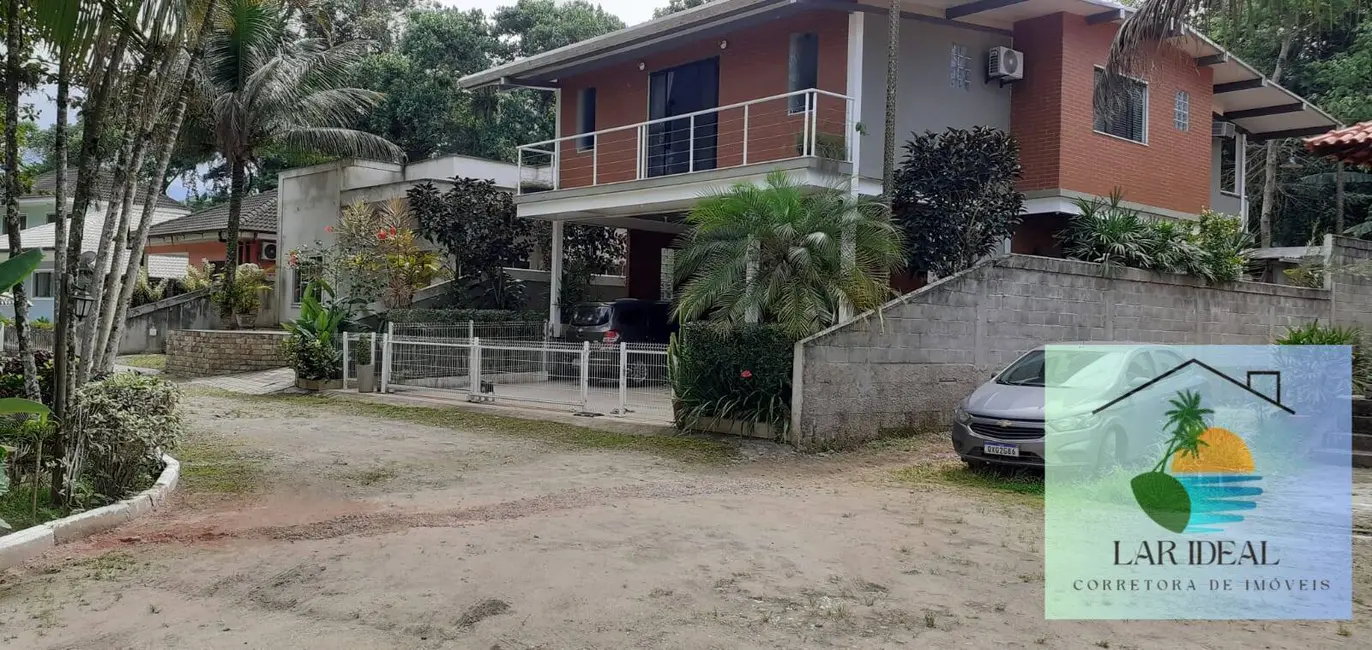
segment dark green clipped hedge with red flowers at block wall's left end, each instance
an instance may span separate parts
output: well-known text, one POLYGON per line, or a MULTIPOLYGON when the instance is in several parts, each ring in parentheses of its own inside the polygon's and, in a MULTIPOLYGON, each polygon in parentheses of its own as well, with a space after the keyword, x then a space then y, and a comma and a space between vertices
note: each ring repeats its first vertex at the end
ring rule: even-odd
POLYGON ((676 426, 716 418, 790 425, 790 372, 796 340, 770 325, 694 322, 672 336, 668 369, 676 426))

